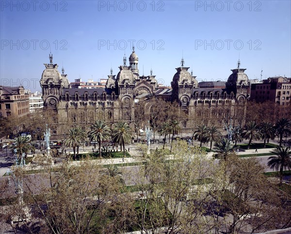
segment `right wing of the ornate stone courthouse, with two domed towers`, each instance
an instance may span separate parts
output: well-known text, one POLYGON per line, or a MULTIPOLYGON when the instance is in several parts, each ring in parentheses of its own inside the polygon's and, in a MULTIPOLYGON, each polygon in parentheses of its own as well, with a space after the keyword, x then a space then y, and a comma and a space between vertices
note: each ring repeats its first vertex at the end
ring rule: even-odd
MULTIPOLYGON (((207 124, 221 125, 224 119, 232 119, 233 125, 243 125, 246 114, 246 101, 250 94, 246 69, 232 69, 227 82, 196 83, 195 77, 188 72, 189 67, 176 68, 172 81, 172 100, 178 102, 181 111, 195 122, 203 120, 207 124)), ((200 121, 200 122, 201 122, 200 121)), ((191 127, 191 121, 184 127, 191 127)))

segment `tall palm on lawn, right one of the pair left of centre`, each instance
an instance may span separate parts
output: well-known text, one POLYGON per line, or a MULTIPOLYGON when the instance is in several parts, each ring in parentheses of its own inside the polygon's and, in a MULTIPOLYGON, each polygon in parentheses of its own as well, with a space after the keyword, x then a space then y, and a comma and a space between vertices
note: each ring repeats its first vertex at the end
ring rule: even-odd
POLYGON ((131 140, 131 129, 126 121, 120 120, 114 124, 112 139, 123 146, 123 156, 125 157, 125 144, 128 144, 131 140))

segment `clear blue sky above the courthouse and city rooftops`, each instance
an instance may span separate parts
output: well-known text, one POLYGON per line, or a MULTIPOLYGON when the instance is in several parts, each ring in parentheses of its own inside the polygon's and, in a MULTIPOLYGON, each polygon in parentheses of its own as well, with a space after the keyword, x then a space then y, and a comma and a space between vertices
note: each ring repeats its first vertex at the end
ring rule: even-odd
POLYGON ((198 82, 291 77, 291 1, 0 0, 0 85, 40 91, 44 63, 69 82, 117 75, 124 54, 170 85, 183 57, 198 82))

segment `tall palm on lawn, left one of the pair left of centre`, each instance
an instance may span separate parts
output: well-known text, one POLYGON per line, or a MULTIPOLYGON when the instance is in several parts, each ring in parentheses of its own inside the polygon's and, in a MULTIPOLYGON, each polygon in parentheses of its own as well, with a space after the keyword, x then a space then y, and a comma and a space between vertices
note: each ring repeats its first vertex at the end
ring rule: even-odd
POLYGON ((101 157, 101 141, 110 138, 110 128, 106 125, 104 120, 96 120, 91 125, 91 131, 88 133, 90 141, 98 141, 99 156, 101 157))

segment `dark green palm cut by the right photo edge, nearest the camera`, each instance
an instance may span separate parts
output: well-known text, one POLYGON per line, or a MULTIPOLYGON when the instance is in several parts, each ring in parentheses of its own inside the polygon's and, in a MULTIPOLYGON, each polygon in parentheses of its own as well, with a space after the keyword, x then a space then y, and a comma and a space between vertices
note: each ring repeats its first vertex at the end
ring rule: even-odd
POLYGON ((269 157, 268 166, 271 169, 279 170, 280 185, 283 179, 283 170, 291 169, 291 150, 288 147, 278 146, 275 150, 271 151, 276 156, 269 157))

